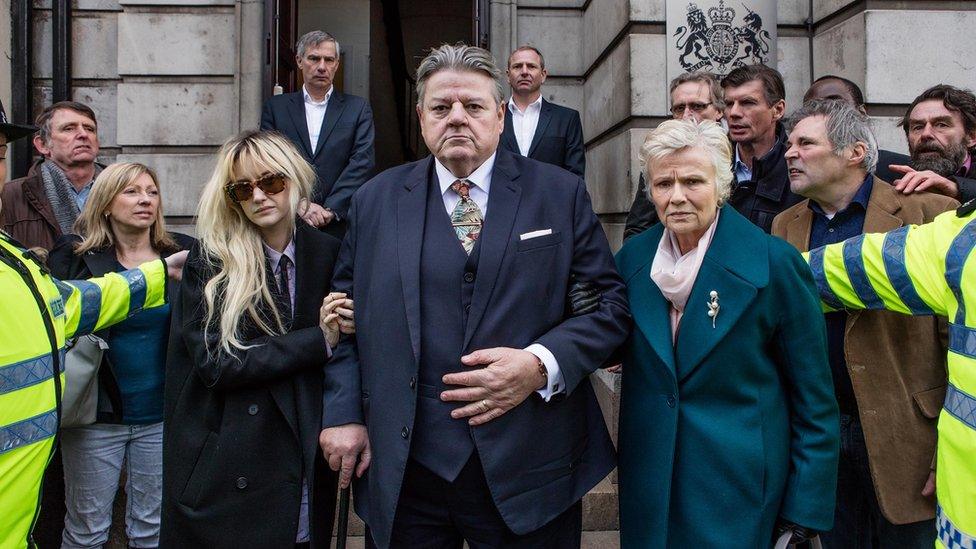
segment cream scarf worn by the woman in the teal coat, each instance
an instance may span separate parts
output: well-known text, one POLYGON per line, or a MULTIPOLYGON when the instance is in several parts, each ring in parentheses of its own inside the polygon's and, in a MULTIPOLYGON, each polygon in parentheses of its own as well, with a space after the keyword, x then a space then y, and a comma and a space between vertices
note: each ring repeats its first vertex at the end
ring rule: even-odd
MULTIPOLYGON (((721 210, 715 212, 715 219, 712 220, 705 234, 698 239, 698 246, 685 255, 681 255, 678 239, 670 229, 664 229, 661 242, 657 245, 657 253, 654 254, 654 261, 651 263, 651 280, 657 284, 664 298, 671 303, 672 345, 678 341, 678 325, 688 303, 691 289, 695 286, 695 279, 698 278, 698 270, 701 269, 702 261, 705 259, 705 252, 708 251, 712 237, 715 236, 715 227, 718 226, 720 213, 721 210)), ((702 304, 703 314, 705 305, 707 304, 702 304)))

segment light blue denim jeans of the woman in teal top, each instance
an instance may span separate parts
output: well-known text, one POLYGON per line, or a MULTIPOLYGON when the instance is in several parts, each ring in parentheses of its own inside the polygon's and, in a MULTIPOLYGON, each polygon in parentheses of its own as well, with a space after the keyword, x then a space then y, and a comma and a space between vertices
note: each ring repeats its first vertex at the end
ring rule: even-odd
POLYGON ((112 503, 126 467, 125 532, 129 547, 159 545, 163 489, 163 424, 96 423, 61 435, 65 499, 62 549, 101 547, 112 526, 112 503))

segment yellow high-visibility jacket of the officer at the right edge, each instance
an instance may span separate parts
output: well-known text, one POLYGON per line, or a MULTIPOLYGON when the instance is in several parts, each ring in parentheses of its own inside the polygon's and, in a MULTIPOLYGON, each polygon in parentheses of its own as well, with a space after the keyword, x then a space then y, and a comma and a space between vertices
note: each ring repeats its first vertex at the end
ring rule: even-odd
POLYGON ((974 209, 967 203, 931 223, 861 235, 808 256, 827 308, 888 309, 949 321, 949 385, 939 415, 935 471, 936 545, 949 549, 976 548, 974 209))

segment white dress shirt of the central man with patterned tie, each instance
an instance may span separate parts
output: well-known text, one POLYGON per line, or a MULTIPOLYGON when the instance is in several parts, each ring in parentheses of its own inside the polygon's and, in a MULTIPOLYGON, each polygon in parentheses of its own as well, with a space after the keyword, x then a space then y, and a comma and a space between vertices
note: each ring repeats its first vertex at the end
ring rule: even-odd
MULTIPOLYGON (((491 189, 491 174, 495 167, 495 155, 492 154, 484 164, 478 167, 475 171, 471 172, 471 175, 467 177, 457 177, 451 173, 440 160, 434 159, 434 171, 437 175, 437 182, 440 184, 441 196, 444 199, 444 209, 447 210, 447 215, 450 217, 451 213, 454 212, 454 208, 457 206, 458 202, 461 201, 461 196, 451 189, 451 185, 454 184, 458 179, 466 179, 471 183, 471 188, 468 191, 468 197, 474 200, 474 203, 478 205, 481 209, 481 218, 488 218, 488 193, 491 189)), ((563 373, 559 369, 559 362, 556 361, 556 357, 552 354, 549 349, 540 343, 533 343, 525 348, 526 351, 539 357, 542 364, 546 367, 546 372, 548 373, 548 383, 542 389, 537 390, 546 402, 553 397, 553 395, 559 394, 565 391, 565 384, 563 383, 563 373)))

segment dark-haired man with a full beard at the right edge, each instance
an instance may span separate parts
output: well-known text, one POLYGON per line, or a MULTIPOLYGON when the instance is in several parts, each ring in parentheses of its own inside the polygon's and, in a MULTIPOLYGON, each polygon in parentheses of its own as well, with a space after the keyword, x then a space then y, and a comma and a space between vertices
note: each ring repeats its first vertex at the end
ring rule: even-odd
POLYGON ((909 194, 928 191, 960 202, 976 198, 976 96, 939 84, 915 98, 899 123, 908 138, 911 166, 891 166, 904 174, 893 181, 909 194))

